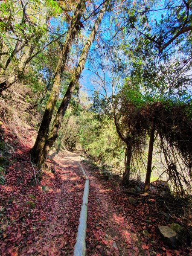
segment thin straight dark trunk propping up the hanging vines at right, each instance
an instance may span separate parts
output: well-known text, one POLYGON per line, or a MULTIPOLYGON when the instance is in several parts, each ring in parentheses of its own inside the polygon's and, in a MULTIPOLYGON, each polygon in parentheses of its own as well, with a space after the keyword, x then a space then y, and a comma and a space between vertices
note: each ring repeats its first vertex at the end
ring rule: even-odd
POLYGON ((154 125, 154 117, 152 118, 151 132, 150 132, 150 140, 148 147, 148 160, 147 160, 147 172, 145 177, 145 185, 144 185, 144 194, 148 194, 150 188, 150 179, 151 179, 151 165, 152 165, 152 157, 153 157, 153 145, 154 145, 154 134, 155 134, 155 125, 154 125))

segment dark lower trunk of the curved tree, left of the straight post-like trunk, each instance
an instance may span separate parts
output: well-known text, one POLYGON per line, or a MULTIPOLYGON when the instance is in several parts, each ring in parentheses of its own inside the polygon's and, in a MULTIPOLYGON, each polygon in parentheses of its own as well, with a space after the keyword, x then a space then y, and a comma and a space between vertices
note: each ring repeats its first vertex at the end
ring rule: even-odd
POLYGON ((132 147, 131 143, 127 144, 126 153, 125 153, 125 171, 123 172, 122 184, 128 185, 131 172, 131 156, 132 156, 132 147))

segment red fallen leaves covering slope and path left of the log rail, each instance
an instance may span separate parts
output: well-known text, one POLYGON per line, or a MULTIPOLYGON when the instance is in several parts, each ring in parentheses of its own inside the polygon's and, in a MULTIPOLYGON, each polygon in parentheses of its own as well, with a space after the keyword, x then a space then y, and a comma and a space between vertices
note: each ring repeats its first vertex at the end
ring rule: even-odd
POLYGON ((29 159, 32 141, 30 132, 26 132, 25 143, 15 142, 14 135, 5 130, 5 138, 15 152, 10 158, 13 164, 5 175, 6 184, 0 186, 5 208, 0 222, 3 230, 0 255, 44 255, 47 252, 49 256, 70 255, 79 224, 84 179, 79 175, 78 166, 66 162, 65 168, 61 168, 54 163, 55 174, 44 172, 41 181, 41 185, 49 186, 49 192, 43 193, 41 185, 32 186, 33 169, 29 159), (74 177, 77 186, 74 186, 74 177), (29 207, 26 201, 32 201, 35 207, 29 207))

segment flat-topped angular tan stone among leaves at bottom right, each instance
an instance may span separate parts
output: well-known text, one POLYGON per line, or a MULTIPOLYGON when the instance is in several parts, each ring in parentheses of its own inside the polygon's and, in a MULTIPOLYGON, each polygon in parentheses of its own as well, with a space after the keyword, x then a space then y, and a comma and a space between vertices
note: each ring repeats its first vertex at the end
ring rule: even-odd
POLYGON ((167 226, 159 226, 159 231, 163 236, 164 241, 173 247, 177 246, 177 233, 167 226))

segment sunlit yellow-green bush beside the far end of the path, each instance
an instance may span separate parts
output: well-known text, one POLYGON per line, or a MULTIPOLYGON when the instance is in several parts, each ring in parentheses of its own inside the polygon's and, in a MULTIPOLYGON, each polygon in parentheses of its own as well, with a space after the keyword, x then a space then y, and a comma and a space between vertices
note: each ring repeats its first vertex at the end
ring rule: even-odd
POLYGON ((124 157, 124 145, 119 141, 114 123, 107 116, 84 112, 79 142, 95 161, 119 166, 124 157))

